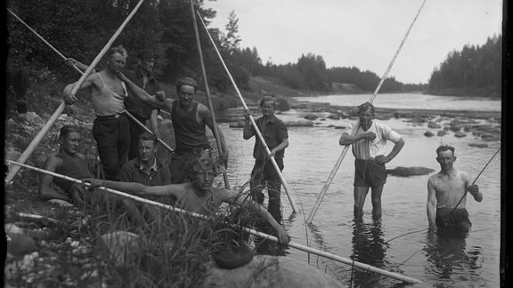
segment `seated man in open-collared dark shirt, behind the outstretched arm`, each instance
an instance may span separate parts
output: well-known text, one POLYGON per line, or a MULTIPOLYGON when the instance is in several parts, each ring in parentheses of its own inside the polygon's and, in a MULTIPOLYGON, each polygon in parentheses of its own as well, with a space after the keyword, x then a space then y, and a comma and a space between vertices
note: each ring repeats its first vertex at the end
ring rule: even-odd
POLYGON ((144 132, 138 137, 138 156, 119 170, 116 180, 148 186, 171 184, 169 169, 157 159, 157 137, 144 132))

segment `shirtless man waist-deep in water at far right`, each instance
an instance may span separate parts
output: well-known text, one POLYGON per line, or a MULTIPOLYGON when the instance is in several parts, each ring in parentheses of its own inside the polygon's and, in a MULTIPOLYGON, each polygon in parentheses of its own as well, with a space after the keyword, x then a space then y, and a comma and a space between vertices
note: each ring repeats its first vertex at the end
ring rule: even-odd
POLYGON ((456 156, 452 146, 442 145, 436 148, 436 161, 440 164, 440 172, 428 180, 429 230, 468 232, 472 223, 468 220, 465 209, 467 190, 477 202, 483 201, 483 194, 477 185, 471 185, 472 180, 468 173, 454 169, 456 156))

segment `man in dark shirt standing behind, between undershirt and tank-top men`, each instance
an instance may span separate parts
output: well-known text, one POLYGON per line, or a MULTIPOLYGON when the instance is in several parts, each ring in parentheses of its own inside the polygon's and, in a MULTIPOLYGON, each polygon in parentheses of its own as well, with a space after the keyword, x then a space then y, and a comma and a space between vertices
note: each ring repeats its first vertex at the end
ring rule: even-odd
MULTIPOLYGON (((125 76, 130 79, 134 84, 144 89, 150 95, 156 95, 160 92, 159 82, 153 76, 153 68, 155 66, 155 54, 151 50, 143 49, 137 54, 137 68, 134 70, 123 71, 125 76)), ((134 95, 134 92, 129 91, 128 97, 125 100, 126 111, 134 116, 142 124, 146 124, 150 120, 150 129, 152 132, 160 137, 159 124, 157 122, 157 114, 159 110, 151 107, 139 97, 134 95)), ((139 135, 145 130, 141 125, 128 117, 130 123, 130 150, 128 152, 128 160, 132 160, 138 155, 139 135)))

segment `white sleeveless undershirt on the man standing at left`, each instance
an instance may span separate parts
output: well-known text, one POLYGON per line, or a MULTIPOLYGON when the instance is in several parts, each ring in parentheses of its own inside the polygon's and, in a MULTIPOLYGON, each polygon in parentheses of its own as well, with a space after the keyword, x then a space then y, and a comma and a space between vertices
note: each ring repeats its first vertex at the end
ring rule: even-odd
POLYGON ((96 116, 111 116, 125 112, 124 101, 128 96, 125 82, 121 82, 125 93, 123 95, 119 95, 118 93, 110 90, 110 88, 105 84, 105 81, 103 81, 103 77, 100 73, 96 73, 96 75, 102 80, 103 87, 100 92, 90 90, 94 114, 96 116))

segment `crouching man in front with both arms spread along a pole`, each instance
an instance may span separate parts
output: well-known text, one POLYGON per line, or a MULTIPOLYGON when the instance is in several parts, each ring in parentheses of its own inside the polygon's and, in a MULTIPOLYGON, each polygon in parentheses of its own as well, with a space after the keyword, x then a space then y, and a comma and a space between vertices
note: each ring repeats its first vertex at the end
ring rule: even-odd
POLYGON ((196 158, 190 165, 190 172, 191 182, 164 186, 145 186, 134 182, 95 179, 86 181, 90 181, 94 186, 104 186, 126 191, 135 196, 175 196, 176 206, 190 212, 202 214, 216 212, 223 202, 247 206, 269 222, 280 244, 289 243, 289 234, 263 206, 252 200, 242 199, 234 190, 212 187, 217 171, 216 164, 210 157, 199 156, 196 158))

